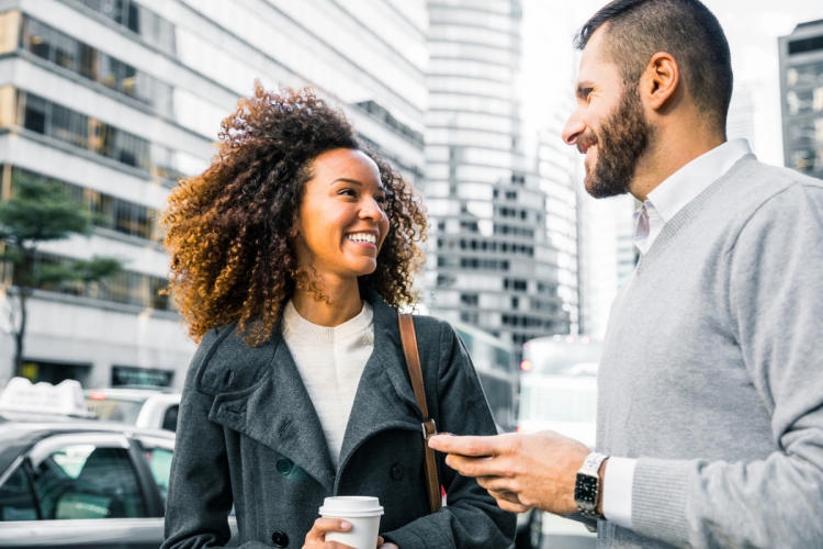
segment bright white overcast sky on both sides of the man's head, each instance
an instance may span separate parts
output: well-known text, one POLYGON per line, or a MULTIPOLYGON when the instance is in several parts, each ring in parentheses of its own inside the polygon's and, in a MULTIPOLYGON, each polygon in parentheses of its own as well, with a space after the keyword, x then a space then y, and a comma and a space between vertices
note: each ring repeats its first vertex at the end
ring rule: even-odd
MULTIPOLYGON (((604 0, 525 0, 520 97, 525 130, 533 133, 572 107, 577 74, 572 36, 604 0)), ((735 87, 752 90, 755 153, 782 165, 777 37, 798 23, 823 19, 821 0, 704 0, 720 20, 732 51, 735 87)), ((555 131, 555 133, 559 133, 555 131)), ((560 135, 557 135, 560 138, 560 135)))

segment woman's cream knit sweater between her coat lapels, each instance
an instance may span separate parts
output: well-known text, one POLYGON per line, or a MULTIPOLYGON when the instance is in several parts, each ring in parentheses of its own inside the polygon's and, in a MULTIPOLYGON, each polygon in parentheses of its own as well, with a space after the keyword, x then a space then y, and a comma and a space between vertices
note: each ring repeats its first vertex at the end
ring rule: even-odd
POLYGON ((360 377, 374 349, 372 315, 363 302, 360 314, 329 328, 303 318, 291 301, 283 312, 283 339, 317 411, 335 469, 360 377))

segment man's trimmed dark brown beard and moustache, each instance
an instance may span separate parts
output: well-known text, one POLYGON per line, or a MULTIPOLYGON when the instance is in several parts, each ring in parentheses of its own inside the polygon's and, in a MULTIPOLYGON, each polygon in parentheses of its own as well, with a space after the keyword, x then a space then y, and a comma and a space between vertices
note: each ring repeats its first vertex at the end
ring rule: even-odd
POLYGON ((599 132, 586 132, 577 139, 578 148, 582 143, 597 145, 595 165, 586 169, 586 191, 596 199, 629 192, 638 160, 649 148, 653 131, 643 112, 638 85, 629 85, 599 132))

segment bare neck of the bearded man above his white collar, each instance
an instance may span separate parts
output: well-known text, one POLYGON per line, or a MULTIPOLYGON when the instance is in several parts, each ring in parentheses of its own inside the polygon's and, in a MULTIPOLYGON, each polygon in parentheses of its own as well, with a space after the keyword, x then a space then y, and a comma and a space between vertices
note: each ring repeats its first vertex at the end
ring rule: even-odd
POLYGON ((631 183, 631 193, 645 202, 649 193, 673 173, 706 153, 725 143, 725 136, 691 132, 690 134, 662 132, 649 152, 638 163, 631 183))

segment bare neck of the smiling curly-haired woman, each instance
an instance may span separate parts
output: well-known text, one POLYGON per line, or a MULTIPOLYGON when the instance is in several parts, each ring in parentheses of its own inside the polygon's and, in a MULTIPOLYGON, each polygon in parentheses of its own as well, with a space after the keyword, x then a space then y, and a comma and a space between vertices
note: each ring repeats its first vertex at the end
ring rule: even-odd
POLYGON ((326 327, 339 326, 359 315, 363 310, 363 300, 360 299, 357 279, 341 284, 324 283, 320 288, 327 300, 317 301, 315 293, 303 284, 296 288, 292 295, 294 309, 312 324, 326 327))

